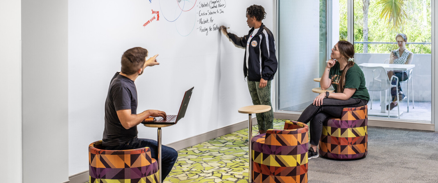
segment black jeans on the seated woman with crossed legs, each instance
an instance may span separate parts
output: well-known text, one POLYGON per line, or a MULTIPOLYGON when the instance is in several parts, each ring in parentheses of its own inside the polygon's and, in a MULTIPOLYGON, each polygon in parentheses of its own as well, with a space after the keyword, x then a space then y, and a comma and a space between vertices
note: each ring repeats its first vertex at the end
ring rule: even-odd
POLYGON ((343 108, 360 107, 367 105, 368 101, 360 98, 349 98, 348 100, 338 100, 333 98, 324 98, 322 105, 309 105, 304 109, 298 118, 298 122, 307 123, 310 121, 310 144, 318 145, 321 139, 322 123, 330 117, 340 118, 343 108))

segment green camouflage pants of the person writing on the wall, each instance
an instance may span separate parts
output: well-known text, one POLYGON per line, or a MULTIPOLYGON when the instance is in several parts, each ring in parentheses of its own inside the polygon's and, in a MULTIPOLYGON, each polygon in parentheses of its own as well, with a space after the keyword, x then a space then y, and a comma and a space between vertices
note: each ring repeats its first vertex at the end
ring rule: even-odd
POLYGON ((258 113, 257 117, 258 130, 272 129, 274 126, 274 110, 271 103, 271 80, 268 81, 265 88, 258 88, 260 82, 248 81, 248 89, 251 94, 254 105, 269 105, 271 110, 268 112, 258 113))

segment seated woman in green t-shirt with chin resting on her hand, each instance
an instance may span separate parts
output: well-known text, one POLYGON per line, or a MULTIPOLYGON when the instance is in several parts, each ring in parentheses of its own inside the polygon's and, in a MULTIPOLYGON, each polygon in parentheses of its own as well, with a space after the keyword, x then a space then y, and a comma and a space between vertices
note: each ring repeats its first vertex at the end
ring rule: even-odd
POLYGON ((343 108, 367 105, 370 95, 365 87, 365 77, 354 63, 354 47, 347 41, 339 41, 332 48, 331 58, 321 77, 321 89, 331 85, 335 93, 321 93, 304 109, 298 122, 310 121, 310 148, 308 159, 319 157, 316 152, 322 133, 322 123, 329 117, 340 118, 343 108), (335 61, 336 59, 337 61, 335 61))

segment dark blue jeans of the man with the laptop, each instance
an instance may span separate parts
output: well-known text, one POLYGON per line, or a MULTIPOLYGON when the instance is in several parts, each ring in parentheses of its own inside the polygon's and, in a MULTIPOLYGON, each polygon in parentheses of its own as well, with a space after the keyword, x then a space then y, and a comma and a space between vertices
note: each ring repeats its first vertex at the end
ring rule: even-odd
MULTIPOLYGON (((149 147, 149 149, 151 149, 152 158, 158 159, 158 142, 152 139, 134 138, 119 146, 104 146, 103 148, 105 150, 127 150, 142 147, 149 147)), ((178 152, 171 147, 162 145, 161 156, 161 180, 165 180, 167 175, 169 175, 170 170, 172 170, 173 164, 177 161, 178 152)))

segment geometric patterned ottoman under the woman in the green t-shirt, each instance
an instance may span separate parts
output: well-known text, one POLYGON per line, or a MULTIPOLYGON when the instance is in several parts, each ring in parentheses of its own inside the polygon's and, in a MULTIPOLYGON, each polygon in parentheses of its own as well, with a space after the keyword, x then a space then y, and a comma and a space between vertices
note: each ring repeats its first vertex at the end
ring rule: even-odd
POLYGON ((358 159, 367 156, 367 105, 344 108, 341 119, 322 125, 319 155, 332 159, 358 159))

